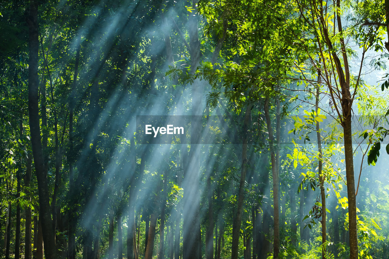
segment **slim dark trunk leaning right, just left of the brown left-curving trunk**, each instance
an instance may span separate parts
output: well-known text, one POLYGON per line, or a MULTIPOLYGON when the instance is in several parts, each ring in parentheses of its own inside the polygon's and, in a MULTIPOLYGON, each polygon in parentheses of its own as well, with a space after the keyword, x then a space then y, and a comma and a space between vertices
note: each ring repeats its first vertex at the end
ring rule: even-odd
POLYGON ((249 119, 251 117, 251 105, 247 105, 245 118, 244 118, 244 137, 242 144, 242 167, 240 172, 240 182, 239 182, 239 193, 238 193, 238 204, 237 212, 233 218, 232 224, 232 249, 231 249, 231 259, 238 258, 238 248, 239 248, 239 233, 240 226, 242 224, 242 211, 243 211, 243 202, 244 202, 244 187, 246 181, 246 172, 247 172, 247 138, 248 132, 247 127, 249 124, 249 119))

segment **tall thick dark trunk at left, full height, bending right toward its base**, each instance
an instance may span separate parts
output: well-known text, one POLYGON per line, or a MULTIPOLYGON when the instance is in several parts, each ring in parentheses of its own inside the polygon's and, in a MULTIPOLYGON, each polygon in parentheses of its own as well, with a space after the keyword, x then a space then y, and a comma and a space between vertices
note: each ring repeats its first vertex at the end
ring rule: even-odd
POLYGON ((29 32, 29 66, 28 66, 28 110, 31 133, 32 152, 37 175, 39 193, 39 213, 42 221, 42 234, 45 243, 46 259, 55 259, 55 236, 52 229, 50 196, 44 168, 42 144, 40 141, 39 110, 38 110, 38 3, 31 0, 27 18, 29 32))

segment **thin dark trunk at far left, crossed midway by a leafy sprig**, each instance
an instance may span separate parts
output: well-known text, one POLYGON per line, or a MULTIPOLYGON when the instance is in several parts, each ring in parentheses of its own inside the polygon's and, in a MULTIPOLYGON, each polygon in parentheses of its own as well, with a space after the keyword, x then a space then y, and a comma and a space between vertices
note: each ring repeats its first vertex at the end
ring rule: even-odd
MULTIPOLYGON (((30 188, 30 180, 31 180, 31 174, 32 174, 32 155, 28 154, 27 159, 27 170, 25 175, 25 189, 26 189, 26 196, 28 197, 28 200, 31 201, 31 197, 29 194, 28 189, 30 188)), ((31 259, 31 208, 26 207, 25 209, 25 216, 26 216, 26 227, 25 227, 25 259, 31 259)))

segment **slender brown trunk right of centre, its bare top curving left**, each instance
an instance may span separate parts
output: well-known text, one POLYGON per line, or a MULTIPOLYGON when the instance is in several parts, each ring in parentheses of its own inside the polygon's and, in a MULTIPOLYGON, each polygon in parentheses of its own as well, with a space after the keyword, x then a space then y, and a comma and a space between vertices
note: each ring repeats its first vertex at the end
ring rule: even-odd
POLYGON ((274 239, 273 239, 273 257, 278 258, 279 246, 280 246, 280 229, 279 229, 279 196, 278 196, 278 175, 277 175, 277 163, 274 155, 274 138, 272 122, 270 121, 269 113, 269 99, 265 100, 265 117, 266 124, 269 133, 269 145, 270 145, 270 157, 272 161, 272 175, 273 175, 273 207, 274 207, 274 239))

